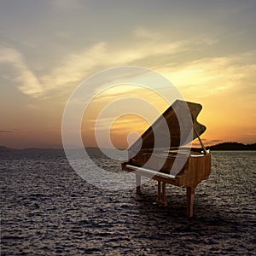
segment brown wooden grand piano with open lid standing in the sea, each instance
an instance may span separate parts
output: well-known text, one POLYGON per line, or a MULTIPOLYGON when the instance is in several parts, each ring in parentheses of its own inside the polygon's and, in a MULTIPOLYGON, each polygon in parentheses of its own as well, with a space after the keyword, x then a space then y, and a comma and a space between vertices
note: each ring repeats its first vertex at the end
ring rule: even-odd
POLYGON ((193 216, 195 188, 211 172, 211 154, 200 138, 207 128, 196 120, 201 108, 194 102, 174 102, 131 145, 129 160, 121 165, 124 171, 135 173, 138 195, 142 193, 142 177, 158 182, 157 201, 161 206, 167 206, 166 183, 186 187, 189 218, 193 216), (195 138, 201 148, 188 146, 195 138))

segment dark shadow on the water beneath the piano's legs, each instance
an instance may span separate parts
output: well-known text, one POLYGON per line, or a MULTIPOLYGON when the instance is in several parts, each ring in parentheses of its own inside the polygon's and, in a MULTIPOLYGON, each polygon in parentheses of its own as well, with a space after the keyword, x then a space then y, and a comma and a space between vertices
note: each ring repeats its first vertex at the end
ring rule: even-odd
POLYGON ((208 201, 205 195, 196 194, 195 214, 193 218, 186 215, 186 191, 185 188, 176 188, 172 185, 168 186, 167 207, 160 207, 157 204, 155 191, 157 186, 152 184, 148 188, 143 189, 143 195, 134 195, 137 202, 139 215, 141 218, 140 228, 145 232, 153 232, 155 230, 148 229, 148 224, 156 223, 161 229, 168 232, 177 231, 193 231, 198 233, 219 234, 227 232, 237 232, 237 228, 244 224, 237 215, 218 206, 214 200, 208 201))

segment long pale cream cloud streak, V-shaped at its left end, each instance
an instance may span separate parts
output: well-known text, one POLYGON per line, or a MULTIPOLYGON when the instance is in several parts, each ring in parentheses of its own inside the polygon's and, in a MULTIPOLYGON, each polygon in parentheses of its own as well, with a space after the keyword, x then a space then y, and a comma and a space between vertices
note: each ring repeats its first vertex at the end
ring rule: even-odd
POLYGON ((111 49, 105 42, 99 42, 78 53, 67 55, 59 67, 49 73, 37 77, 26 65, 23 55, 16 49, 1 48, 0 63, 12 64, 17 75, 14 82, 18 89, 29 96, 45 96, 50 90, 63 90, 71 84, 77 85, 84 78, 98 69, 129 65, 134 61, 143 60, 148 56, 165 55, 183 50, 180 42, 172 44, 147 44, 136 49, 111 49), (68 86, 67 86, 68 85, 68 86))

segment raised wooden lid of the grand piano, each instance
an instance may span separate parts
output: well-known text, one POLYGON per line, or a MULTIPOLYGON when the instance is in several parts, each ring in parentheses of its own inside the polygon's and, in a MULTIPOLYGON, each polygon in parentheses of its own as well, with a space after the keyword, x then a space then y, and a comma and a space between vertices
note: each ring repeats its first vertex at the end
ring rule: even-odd
POLYGON ((129 151, 167 148, 166 145, 168 148, 180 147, 191 143, 207 130, 205 125, 201 125, 196 120, 201 108, 201 104, 177 100, 131 145, 129 151), (157 134, 156 145, 154 145, 154 133, 157 134))

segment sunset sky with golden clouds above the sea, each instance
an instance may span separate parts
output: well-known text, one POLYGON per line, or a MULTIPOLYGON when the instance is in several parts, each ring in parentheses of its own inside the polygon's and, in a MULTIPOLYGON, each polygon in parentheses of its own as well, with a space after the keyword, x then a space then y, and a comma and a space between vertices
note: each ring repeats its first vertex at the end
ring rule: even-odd
MULTIPOLYGON (((185 101, 201 103, 206 145, 255 143, 255 17, 254 0, 1 1, 0 145, 61 148, 73 91, 119 66, 160 73, 185 101)), ((147 95, 160 111, 168 107, 150 91, 125 86, 90 103, 81 125, 87 146, 96 146, 97 116, 117 95, 147 95)), ((136 115, 120 116, 111 126, 113 144, 126 147, 127 134, 147 125, 136 115)))

